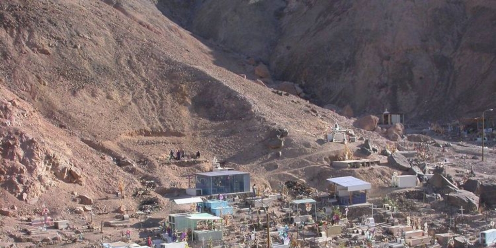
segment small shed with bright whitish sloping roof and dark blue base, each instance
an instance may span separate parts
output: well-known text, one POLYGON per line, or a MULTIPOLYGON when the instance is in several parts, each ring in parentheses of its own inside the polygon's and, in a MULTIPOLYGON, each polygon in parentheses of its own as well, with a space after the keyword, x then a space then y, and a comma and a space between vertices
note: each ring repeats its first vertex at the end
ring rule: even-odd
POLYGON ((327 179, 333 186, 334 196, 341 205, 367 203, 367 190, 372 189, 368 182, 355 177, 327 179))

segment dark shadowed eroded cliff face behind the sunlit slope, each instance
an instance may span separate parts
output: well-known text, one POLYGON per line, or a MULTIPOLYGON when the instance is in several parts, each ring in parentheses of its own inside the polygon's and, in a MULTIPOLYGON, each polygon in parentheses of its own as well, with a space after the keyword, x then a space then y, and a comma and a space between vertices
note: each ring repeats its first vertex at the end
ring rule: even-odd
POLYGON ((478 112, 496 96, 495 1, 221 0, 187 7, 183 24, 191 32, 268 63, 273 79, 300 84, 321 106, 433 119, 478 112))

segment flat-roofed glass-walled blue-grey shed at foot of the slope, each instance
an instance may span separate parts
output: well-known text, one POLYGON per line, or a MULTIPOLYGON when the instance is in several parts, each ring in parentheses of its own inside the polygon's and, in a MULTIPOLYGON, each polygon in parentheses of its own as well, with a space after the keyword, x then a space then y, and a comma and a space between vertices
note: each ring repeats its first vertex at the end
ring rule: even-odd
POLYGON ((248 172, 212 171, 196 173, 196 188, 203 195, 250 192, 248 172))

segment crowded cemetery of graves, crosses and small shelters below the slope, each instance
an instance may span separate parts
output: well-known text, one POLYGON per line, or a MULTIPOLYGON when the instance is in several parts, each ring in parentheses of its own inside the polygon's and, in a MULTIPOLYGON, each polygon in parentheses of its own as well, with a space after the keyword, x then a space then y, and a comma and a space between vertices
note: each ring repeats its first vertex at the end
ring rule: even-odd
MULTIPOLYGON (((364 146, 369 150, 373 147, 370 141, 365 141, 364 146)), ((211 171, 185 177, 188 187, 183 193, 168 198, 170 204, 161 212, 166 215, 157 216, 159 221, 153 225, 146 224, 146 219, 150 219, 147 213, 128 214, 127 211, 98 225, 93 223, 94 214, 87 206, 81 209, 91 213, 91 220, 74 225, 64 219, 53 219, 45 207, 39 217, 22 224, 25 227, 18 236, 38 240, 63 236, 73 242, 85 242, 86 237, 121 230, 121 237, 101 243, 105 248, 495 245, 495 223, 477 211, 480 202, 476 201, 478 198, 472 200, 474 196, 467 191, 470 187, 459 189, 447 179, 444 168, 439 165, 422 165, 419 156, 423 152, 405 149, 389 155, 388 166, 418 168, 394 171, 384 177, 386 187, 375 185, 374 180, 339 176, 324 179, 322 188, 325 190, 321 191, 302 181, 281 182, 276 187, 257 186, 250 182, 250 173, 224 168, 214 158, 211 171), (193 187, 191 180, 194 180, 193 187), (387 193, 377 196, 373 194, 375 190, 387 193), (138 240, 130 231, 135 228, 138 228, 138 240)), ((367 173, 382 166, 384 159, 371 158, 333 161, 331 167, 346 175, 354 171, 367 173)), ((480 186, 475 184, 475 187, 480 186)), ((124 193, 113 197, 122 199, 124 193)))

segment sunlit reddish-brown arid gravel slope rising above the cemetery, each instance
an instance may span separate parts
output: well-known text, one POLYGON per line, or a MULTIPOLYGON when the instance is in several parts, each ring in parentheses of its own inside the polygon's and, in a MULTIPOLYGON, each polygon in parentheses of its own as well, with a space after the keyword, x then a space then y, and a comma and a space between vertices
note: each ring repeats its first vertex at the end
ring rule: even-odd
POLYGON ((36 113, 2 129, 3 146, 21 154, 2 163, 27 168, 2 172, 2 188, 17 199, 35 202, 42 187, 70 194, 78 187, 65 186, 71 168, 92 185, 84 188, 90 196, 113 193, 122 180, 133 188, 141 178, 155 179, 160 188, 186 187, 183 176, 208 170, 214 156, 267 182, 269 170, 299 170, 300 157, 313 152, 305 165, 328 165, 324 158, 343 146, 317 140, 335 122, 351 126, 218 66, 247 62, 205 46, 149 1, 3 1, 0 23, 2 104, 22 102, 36 113), (289 130, 282 148, 278 128, 289 130), (39 155, 32 154, 30 137, 39 155), (200 150, 206 160, 171 164, 171 149, 200 150), (279 151, 284 160, 260 170, 279 151), (47 167, 52 155, 66 162, 47 167), (12 180, 26 189, 11 190, 12 180))

